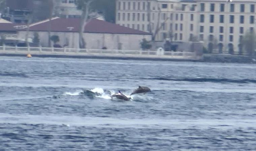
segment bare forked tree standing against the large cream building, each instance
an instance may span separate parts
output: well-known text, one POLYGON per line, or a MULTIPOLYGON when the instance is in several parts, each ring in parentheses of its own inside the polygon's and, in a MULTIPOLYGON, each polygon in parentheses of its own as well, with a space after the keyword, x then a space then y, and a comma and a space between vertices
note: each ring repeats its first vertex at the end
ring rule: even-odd
POLYGON ((152 24, 153 22, 151 21, 151 9, 150 9, 150 6, 148 5, 148 11, 147 11, 147 14, 148 14, 148 27, 149 27, 149 32, 152 34, 152 40, 155 41, 156 40, 156 35, 159 33, 159 31, 161 30, 161 28, 163 28, 164 24, 166 23, 166 21, 169 19, 169 17, 166 17, 164 19, 164 21, 160 21, 160 18, 161 18, 161 9, 158 5, 157 9, 158 9, 158 15, 157 15, 157 23, 156 23, 156 28, 155 30, 153 29, 152 27, 152 24))

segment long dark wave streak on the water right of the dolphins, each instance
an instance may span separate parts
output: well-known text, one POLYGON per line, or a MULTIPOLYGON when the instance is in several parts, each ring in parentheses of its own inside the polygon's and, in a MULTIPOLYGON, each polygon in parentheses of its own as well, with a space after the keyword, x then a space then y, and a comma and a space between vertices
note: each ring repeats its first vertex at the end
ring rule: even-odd
POLYGON ((146 78, 146 80, 164 80, 164 81, 187 81, 187 82, 212 82, 212 83, 256 83, 256 80, 253 79, 216 79, 216 78, 146 78))

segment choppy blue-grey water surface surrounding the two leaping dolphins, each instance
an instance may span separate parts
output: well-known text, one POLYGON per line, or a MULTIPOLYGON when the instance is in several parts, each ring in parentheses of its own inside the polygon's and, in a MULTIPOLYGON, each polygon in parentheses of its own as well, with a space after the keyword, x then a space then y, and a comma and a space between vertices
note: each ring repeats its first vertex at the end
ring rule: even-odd
POLYGON ((254 64, 0 57, 0 150, 255 150, 255 75, 254 64), (110 97, 139 85, 152 92, 110 97))

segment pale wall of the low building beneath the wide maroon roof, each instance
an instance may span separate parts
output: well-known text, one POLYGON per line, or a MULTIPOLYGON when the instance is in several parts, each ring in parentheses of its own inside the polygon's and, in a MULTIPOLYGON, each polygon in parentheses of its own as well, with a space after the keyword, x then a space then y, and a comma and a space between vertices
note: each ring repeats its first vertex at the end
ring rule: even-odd
MULTIPOLYGON (((42 47, 48 47, 48 33, 37 32, 42 47)), ((67 45, 67 48, 79 48, 79 33, 72 32, 51 32, 52 35, 59 36, 59 45, 67 45)), ((26 31, 19 31, 18 38, 25 39, 26 31)), ((34 32, 29 32, 29 38, 34 38, 34 32)), ((151 35, 132 35, 132 34, 101 34, 101 33, 84 33, 86 48, 88 49, 123 49, 139 50, 140 42, 143 38, 151 40, 151 35)), ((52 42, 53 46, 53 42, 52 42)))

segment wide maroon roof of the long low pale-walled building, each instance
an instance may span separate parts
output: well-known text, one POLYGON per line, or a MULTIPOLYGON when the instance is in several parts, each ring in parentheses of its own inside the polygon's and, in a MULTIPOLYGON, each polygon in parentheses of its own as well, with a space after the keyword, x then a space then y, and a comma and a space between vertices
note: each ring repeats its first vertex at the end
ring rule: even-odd
MULTIPOLYGON (((49 20, 31 24, 30 31, 48 31, 49 20)), ((55 18, 51 20, 52 32, 79 32, 80 19, 78 18, 55 18)), ((108 33, 108 34, 138 34, 150 35, 150 33, 134 30, 118 24, 92 19, 85 26, 85 33, 108 33)))

